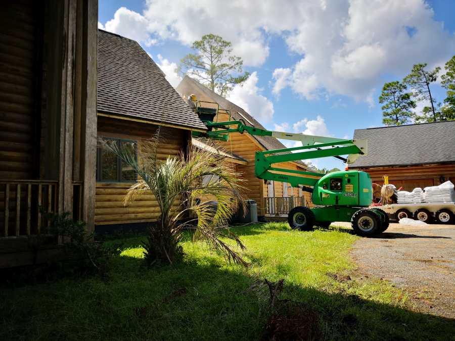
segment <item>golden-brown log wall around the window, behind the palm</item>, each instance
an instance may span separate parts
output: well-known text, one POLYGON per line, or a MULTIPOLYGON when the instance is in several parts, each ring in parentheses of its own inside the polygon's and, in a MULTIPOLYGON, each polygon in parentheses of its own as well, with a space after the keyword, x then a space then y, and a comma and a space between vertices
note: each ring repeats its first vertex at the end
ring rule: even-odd
MULTIPOLYGON (((151 138, 157 126, 112 117, 98 117, 98 136, 127 138, 138 141, 151 138)), ((188 130, 162 127, 163 142, 160 143, 158 158, 177 156, 189 143, 188 130)), ((132 204, 124 206, 123 198, 132 183, 97 182, 95 224, 126 224, 156 221, 159 216, 158 203, 152 193, 144 194, 132 204)))

